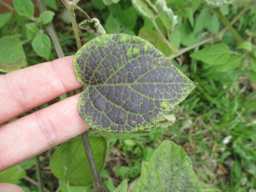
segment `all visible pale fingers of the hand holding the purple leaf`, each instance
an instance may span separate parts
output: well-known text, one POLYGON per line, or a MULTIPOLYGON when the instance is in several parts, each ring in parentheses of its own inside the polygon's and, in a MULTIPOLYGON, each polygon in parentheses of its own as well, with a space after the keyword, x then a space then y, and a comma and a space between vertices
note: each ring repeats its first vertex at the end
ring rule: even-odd
MULTIPOLYGON (((0 124, 82 87, 73 56, 0 75, 0 124)), ((77 111, 79 94, 0 126, 0 172, 69 140, 90 126, 77 111)), ((2 191, 22 191, 0 183, 2 191)))

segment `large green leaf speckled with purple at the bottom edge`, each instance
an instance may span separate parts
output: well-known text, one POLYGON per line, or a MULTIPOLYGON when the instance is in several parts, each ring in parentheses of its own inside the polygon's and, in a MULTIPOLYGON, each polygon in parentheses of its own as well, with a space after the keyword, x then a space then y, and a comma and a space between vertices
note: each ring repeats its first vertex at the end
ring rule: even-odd
POLYGON ((172 141, 163 141, 148 162, 132 192, 199 192, 201 186, 186 152, 172 141))

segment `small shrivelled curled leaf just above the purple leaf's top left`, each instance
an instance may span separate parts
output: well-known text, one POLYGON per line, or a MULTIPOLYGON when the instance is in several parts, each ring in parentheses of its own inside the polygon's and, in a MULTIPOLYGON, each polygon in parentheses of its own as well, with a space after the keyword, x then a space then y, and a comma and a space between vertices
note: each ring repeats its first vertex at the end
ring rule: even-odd
POLYGON ((92 22, 89 20, 83 20, 78 25, 81 29, 86 30, 88 33, 92 33, 95 36, 103 35, 106 33, 105 29, 100 24, 97 18, 92 18, 92 22))

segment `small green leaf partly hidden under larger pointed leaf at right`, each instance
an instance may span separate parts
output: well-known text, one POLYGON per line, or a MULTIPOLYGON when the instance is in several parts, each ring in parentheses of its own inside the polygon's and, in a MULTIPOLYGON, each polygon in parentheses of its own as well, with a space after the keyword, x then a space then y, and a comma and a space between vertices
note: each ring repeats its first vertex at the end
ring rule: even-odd
POLYGON ((225 63, 216 66, 216 72, 227 72, 236 69, 240 66, 241 61, 242 59, 239 56, 230 56, 225 63))

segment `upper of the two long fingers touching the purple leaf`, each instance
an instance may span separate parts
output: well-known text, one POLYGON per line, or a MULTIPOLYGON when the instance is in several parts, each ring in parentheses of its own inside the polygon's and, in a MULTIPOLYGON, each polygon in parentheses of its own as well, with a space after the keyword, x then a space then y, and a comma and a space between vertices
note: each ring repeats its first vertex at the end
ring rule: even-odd
POLYGON ((73 56, 41 63, 0 76, 0 124, 82 87, 73 56))

